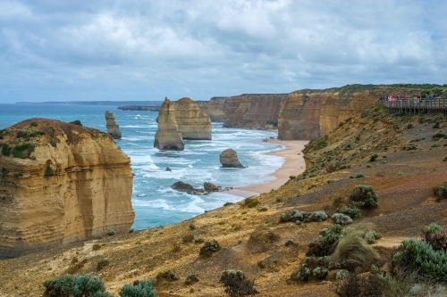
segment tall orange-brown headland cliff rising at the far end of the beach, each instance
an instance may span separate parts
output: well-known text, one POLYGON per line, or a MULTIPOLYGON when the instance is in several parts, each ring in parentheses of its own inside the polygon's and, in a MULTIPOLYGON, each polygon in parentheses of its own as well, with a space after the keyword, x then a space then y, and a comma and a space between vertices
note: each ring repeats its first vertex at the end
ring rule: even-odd
POLYGON ((287 96, 278 119, 278 138, 313 139, 357 116, 382 96, 417 95, 421 87, 348 85, 325 90, 299 90, 287 96))

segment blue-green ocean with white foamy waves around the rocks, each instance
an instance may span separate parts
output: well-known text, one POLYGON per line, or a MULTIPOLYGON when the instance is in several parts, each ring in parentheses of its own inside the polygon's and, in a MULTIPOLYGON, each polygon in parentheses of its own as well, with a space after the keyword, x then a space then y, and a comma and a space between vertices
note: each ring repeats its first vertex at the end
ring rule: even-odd
POLYGON ((122 139, 115 140, 131 158, 133 179, 132 205, 134 229, 145 229, 181 222, 205 210, 239 202, 240 196, 219 192, 191 195, 177 192, 170 186, 183 181, 195 187, 211 182, 216 186, 237 187, 263 184, 274 179, 271 174, 283 165, 283 158, 268 154, 282 149, 280 144, 262 140, 276 137, 274 131, 223 128, 213 123, 212 140, 186 140, 181 152, 154 148, 156 117, 154 111, 120 111, 116 105, 71 104, 0 104, 0 129, 30 118, 80 120, 83 126, 106 131, 105 111, 112 111, 122 130, 122 139), (246 169, 223 169, 219 155, 232 148, 246 169), (165 171, 166 167, 172 171, 165 171))

